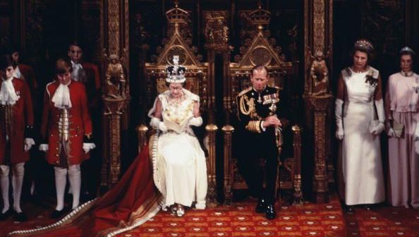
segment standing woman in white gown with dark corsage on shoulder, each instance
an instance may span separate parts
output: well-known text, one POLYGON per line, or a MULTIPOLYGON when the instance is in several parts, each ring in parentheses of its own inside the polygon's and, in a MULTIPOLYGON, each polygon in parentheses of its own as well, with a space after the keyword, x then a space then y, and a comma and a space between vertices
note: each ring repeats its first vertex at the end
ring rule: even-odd
POLYGON ((384 105, 379 71, 368 65, 372 44, 354 44, 353 65, 344 68, 336 96, 336 138, 342 140, 341 187, 346 205, 384 201, 379 134, 384 130, 384 105))

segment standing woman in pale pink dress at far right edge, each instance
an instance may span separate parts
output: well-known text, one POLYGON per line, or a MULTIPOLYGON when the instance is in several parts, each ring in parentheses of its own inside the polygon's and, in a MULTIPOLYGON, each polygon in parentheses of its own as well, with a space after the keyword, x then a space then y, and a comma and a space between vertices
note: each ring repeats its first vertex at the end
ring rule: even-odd
POLYGON ((419 207, 418 140, 419 75, 413 73, 415 52, 400 51, 401 71, 389 77, 386 93, 387 135, 389 135, 389 201, 391 205, 419 207))

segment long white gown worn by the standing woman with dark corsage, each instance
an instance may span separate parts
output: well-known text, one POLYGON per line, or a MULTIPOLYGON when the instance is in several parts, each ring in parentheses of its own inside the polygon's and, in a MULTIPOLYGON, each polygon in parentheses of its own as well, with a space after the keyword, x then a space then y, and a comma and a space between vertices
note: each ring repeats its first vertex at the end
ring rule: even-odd
POLYGON ((384 180, 379 135, 370 133, 374 120, 375 87, 365 83, 367 73, 355 73, 351 68, 342 71, 346 85, 344 102, 344 140, 342 168, 346 205, 374 204, 384 201, 384 180))

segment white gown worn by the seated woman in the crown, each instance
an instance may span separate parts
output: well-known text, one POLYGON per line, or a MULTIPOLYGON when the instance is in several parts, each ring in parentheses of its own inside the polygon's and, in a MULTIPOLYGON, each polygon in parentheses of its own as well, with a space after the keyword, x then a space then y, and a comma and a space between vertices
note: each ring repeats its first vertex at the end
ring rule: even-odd
MULTIPOLYGON (((188 121, 193 118, 193 104, 199 102, 199 97, 185 89, 183 93, 186 99, 181 103, 169 102, 169 91, 157 97, 162 102, 162 117, 168 131, 160 133, 152 152, 154 183, 163 194, 164 206, 178 203, 190 207, 196 201, 197 209, 205 209, 205 153, 188 126, 188 121)), ((154 112, 154 107, 149 115, 154 112)))

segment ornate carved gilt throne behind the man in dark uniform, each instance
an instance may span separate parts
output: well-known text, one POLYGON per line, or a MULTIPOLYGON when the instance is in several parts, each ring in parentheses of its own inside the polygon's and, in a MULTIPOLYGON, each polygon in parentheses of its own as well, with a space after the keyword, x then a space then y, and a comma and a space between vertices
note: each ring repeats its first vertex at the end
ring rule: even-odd
MULTIPOLYGON (((250 73, 253 66, 263 64, 269 70, 269 84, 271 86, 280 87, 283 92, 287 92, 290 88, 287 87, 289 80, 291 80, 294 66, 291 61, 285 61, 281 56, 281 49, 277 47, 274 39, 269 39, 269 31, 264 31, 263 26, 269 23, 270 13, 263 10, 261 7, 248 15, 251 22, 257 27, 254 31, 253 37, 246 39, 245 45, 241 46, 240 54, 235 57, 236 63, 229 65, 229 84, 231 90, 229 95, 225 95, 225 100, 229 101, 228 109, 231 116, 237 114, 236 96, 241 90, 248 88, 250 85, 250 73)), ((280 109, 280 108, 279 108, 280 109)), ((233 121, 233 119, 231 119, 233 121)), ((226 195, 226 203, 231 202, 231 190, 240 190, 247 188, 243 178, 238 174, 237 159, 234 151, 231 152, 231 145, 234 146, 234 141, 231 141, 233 129, 231 126, 224 126, 224 192, 226 195)), ((300 128, 296 125, 291 127, 292 140, 291 152, 284 153, 281 159, 281 166, 279 170, 279 180, 277 186, 282 189, 289 189, 293 191, 294 203, 300 203, 302 194, 300 189, 300 157, 301 157, 301 138, 300 128)), ((286 147, 286 146, 285 146, 286 147)), ((255 148, 255 147, 253 147, 255 148)), ((248 149, 246 147, 236 147, 235 149, 248 149)), ((256 147, 257 149, 257 147, 256 147)))

